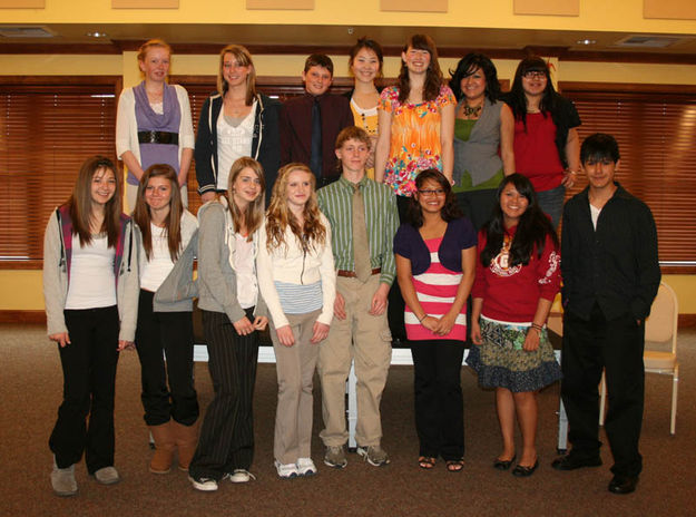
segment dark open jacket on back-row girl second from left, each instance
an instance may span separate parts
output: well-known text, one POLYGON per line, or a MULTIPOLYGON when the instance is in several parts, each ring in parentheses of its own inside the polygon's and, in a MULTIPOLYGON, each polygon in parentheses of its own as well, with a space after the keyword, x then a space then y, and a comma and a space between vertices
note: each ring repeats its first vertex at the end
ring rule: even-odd
MULTIPOLYGON (((281 103, 265 95, 258 95, 256 101, 252 158, 264 168, 266 192, 271 192, 281 166, 281 103)), ((215 94, 206 99, 200 109, 194 150, 198 194, 217 191, 217 118, 222 108, 223 97, 215 94)))

